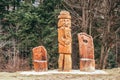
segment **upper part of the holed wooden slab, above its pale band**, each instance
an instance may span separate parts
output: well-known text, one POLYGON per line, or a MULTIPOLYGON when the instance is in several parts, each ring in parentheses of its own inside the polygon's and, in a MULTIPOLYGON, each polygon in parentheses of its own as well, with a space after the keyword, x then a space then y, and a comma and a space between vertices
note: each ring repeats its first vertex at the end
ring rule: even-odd
POLYGON ((94 59, 94 45, 92 37, 87 34, 79 34, 79 52, 81 58, 94 59))

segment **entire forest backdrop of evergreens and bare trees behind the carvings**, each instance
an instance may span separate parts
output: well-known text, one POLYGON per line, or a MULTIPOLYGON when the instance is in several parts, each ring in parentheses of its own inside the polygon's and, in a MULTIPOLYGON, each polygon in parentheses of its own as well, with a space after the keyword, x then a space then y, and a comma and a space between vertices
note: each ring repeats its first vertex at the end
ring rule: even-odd
POLYGON ((73 69, 79 69, 80 32, 93 37, 97 69, 120 67, 120 0, 0 0, 0 71, 31 70, 32 48, 40 45, 49 69, 57 69, 61 10, 72 16, 73 69))

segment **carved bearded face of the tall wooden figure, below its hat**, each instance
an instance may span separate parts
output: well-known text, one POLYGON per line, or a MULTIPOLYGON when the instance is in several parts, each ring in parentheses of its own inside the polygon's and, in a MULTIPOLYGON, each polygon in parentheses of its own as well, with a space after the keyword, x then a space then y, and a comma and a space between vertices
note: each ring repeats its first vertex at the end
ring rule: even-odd
POLYGON ((58 27, 71 27, 71 20, 70 19, 59 19, 58 27))

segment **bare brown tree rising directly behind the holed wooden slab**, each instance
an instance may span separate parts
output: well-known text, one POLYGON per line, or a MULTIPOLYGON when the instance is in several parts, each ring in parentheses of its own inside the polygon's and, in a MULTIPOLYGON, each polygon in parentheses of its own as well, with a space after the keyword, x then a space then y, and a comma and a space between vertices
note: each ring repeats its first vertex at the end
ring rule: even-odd
POLYGON ((72 15, 72 36, 73 36, 73 62, 74 66, 79 62, 77 60, 78 55, 78 43, 76 43, 77 33, 86 32, 92 35, 92 23, 97 13, 97 6, 100 1, 98 0, 64 0, 63 6, 72 15))

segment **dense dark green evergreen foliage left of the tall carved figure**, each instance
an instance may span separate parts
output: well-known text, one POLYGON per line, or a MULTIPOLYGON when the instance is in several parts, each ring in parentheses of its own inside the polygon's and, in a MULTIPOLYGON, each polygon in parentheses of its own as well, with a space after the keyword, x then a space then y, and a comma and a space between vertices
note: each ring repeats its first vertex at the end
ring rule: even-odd
MULTIPOLYGON (((56 0, 44 0, 34 7, 29 3, 20 3, 16 10, 10 11, 4 18, 3 31, 6 40, 14 42, 15 50, 23 58, 32 57, 32 48, 43 45, 48 51, 49 68, 57 67, 57 16, 56 0)), ((16 54, 14 54, 16 55, 16 54)))

